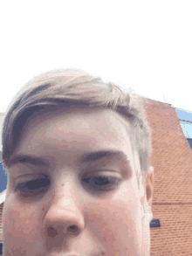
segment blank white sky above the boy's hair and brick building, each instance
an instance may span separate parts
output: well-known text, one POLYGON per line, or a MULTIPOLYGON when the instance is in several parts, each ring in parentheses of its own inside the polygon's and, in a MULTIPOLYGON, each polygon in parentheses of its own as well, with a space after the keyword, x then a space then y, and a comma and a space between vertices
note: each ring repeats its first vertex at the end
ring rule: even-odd
POLYGON ((28 80, 65 67, 192 112, 191 0, 1 1, 0 31, 1 113, 28 80))

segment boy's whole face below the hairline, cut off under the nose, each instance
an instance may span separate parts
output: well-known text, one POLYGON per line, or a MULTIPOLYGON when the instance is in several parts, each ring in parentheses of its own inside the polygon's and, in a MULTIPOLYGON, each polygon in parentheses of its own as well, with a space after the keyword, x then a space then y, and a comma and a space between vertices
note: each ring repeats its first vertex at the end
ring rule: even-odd
POLYGON ((139 158, 121 121, 110 110, 80 109, 29 118, 11 157, 4 256, 149 255, 139 158))

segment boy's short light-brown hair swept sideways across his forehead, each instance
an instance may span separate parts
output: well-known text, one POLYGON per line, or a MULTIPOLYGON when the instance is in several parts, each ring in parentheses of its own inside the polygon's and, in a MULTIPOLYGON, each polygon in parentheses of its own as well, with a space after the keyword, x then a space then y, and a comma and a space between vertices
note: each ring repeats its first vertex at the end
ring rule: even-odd
MULTIPOLYGON (((105 83, 99 77, 74 69, 44 73, 24 86, 7 111, 3 121, 3 165, 9 168, 10 156, 22 136, 21 129, 34 112, 49 107, 93 107, 111 109, 125 121, 133 153, 138 154, 141 173, 137 182, 146 181, 150 166, 151 131, 148 126, 145 100, 134 93, 125 93, 119 86, 105 83)), ((31 116, 32 117, 32 116, 31 116)))

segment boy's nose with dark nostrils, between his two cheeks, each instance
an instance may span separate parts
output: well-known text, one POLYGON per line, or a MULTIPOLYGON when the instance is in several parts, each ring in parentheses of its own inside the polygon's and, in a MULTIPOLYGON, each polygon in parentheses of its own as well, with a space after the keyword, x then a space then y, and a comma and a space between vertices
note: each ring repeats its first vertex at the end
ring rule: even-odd
POLYGON ((44 226, 49 237, 78 235, 85 227, 84 216, 79 209, 79 200, 72 185, 54 192, 51 206, 45 215, 44 226))

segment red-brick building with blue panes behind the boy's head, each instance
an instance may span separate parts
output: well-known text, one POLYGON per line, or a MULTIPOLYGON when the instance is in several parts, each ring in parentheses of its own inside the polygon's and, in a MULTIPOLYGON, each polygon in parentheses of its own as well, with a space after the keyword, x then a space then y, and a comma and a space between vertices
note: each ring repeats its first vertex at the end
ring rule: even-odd
MULTIPOLYGON (((152 227, 153 219, 150 225, 151 256, 192 255, 192 135, 185 129, 187 122, 192 132, 192 113, 184 111, 188 120, 183 121, 182 110, 170 104, 149 99, 146 103, 153 134, 152 211, 160 223, 152 227)), ((4 196, 5 190, 0 193, 0 240, 4 196)))

